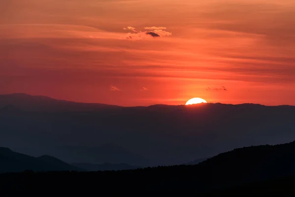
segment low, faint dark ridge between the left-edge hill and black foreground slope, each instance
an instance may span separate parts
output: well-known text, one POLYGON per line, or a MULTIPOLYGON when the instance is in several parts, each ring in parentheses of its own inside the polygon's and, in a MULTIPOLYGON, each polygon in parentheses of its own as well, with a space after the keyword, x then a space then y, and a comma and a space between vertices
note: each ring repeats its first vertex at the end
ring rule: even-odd
POLYGON ((105 171, 105 170, 127 170, 127 169, 138 169, 140 166, 129 165, 129 164, 87 164, 87 163, 74 163, 74 166, 86 169, 88 171, 105 171))

